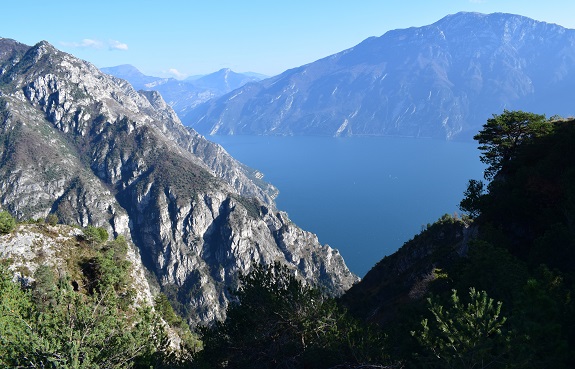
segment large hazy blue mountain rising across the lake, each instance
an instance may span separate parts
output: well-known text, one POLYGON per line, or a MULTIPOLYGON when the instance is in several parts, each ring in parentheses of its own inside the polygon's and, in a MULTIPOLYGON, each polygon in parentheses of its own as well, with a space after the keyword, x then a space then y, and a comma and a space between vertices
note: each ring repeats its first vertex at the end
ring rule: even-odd
POLYGON ((203 134, 467 139, 503 109, 573 114, 575 30, 458 13, 394 30, 211 100, 203 134))

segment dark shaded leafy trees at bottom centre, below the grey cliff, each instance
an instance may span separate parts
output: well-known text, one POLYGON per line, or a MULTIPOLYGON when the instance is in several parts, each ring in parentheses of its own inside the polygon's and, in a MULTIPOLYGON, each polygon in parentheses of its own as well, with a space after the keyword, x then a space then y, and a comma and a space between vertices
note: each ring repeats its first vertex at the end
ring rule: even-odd
POLYGON ((203 331, 196 364, 211 368, 364 367, 388 363, 386 337, 351 318, 285 266, 240 277, 223 322, 203 331), (368 365, 369 364, 369 365, 368 365))

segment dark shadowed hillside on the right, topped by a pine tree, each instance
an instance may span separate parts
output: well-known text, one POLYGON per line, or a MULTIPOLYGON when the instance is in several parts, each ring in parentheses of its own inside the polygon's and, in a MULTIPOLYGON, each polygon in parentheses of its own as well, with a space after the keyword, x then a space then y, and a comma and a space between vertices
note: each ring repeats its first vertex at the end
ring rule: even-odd
POLYGON ((474 218, 443 216, 341 301, 393 337, 406 367, 453 367, 453 359, 480 366, 483 352, 493 367, 572 368, 575 119, 507 111, 476 139, 495 170, 486 170, 488 178, 495 175, 487 186, 470 181, 465 191, 462 208, 474 218), (482 331, 487 317, 504 317, 501 329, 482 331), (508 335, 507 343, 498 335, 508 335))

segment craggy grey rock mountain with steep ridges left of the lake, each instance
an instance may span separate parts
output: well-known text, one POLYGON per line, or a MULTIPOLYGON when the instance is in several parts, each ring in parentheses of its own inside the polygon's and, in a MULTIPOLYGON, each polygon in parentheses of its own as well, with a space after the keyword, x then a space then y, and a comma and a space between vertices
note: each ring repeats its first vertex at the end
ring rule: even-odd
POLYGON ((282 262, 334 294, 357 280, 276 209, 262 177, 186 129, 157 92, 47 42, 0 39, 2 208, 125 236, 190 323, 221 318, 254 262, 282 262))

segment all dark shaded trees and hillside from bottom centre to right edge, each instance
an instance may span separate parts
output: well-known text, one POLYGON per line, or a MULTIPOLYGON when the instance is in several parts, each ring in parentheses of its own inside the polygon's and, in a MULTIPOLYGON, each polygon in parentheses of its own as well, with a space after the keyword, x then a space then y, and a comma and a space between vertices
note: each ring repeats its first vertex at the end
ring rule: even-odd
POLYGON ((227 319, 204 331, 200 359, 233 368, 573 367, 575 121, 505 111, 475 139, 491 182, 470 181, 462 218, 428 226, 337 302, 277 270, 244 277, 227 319))

